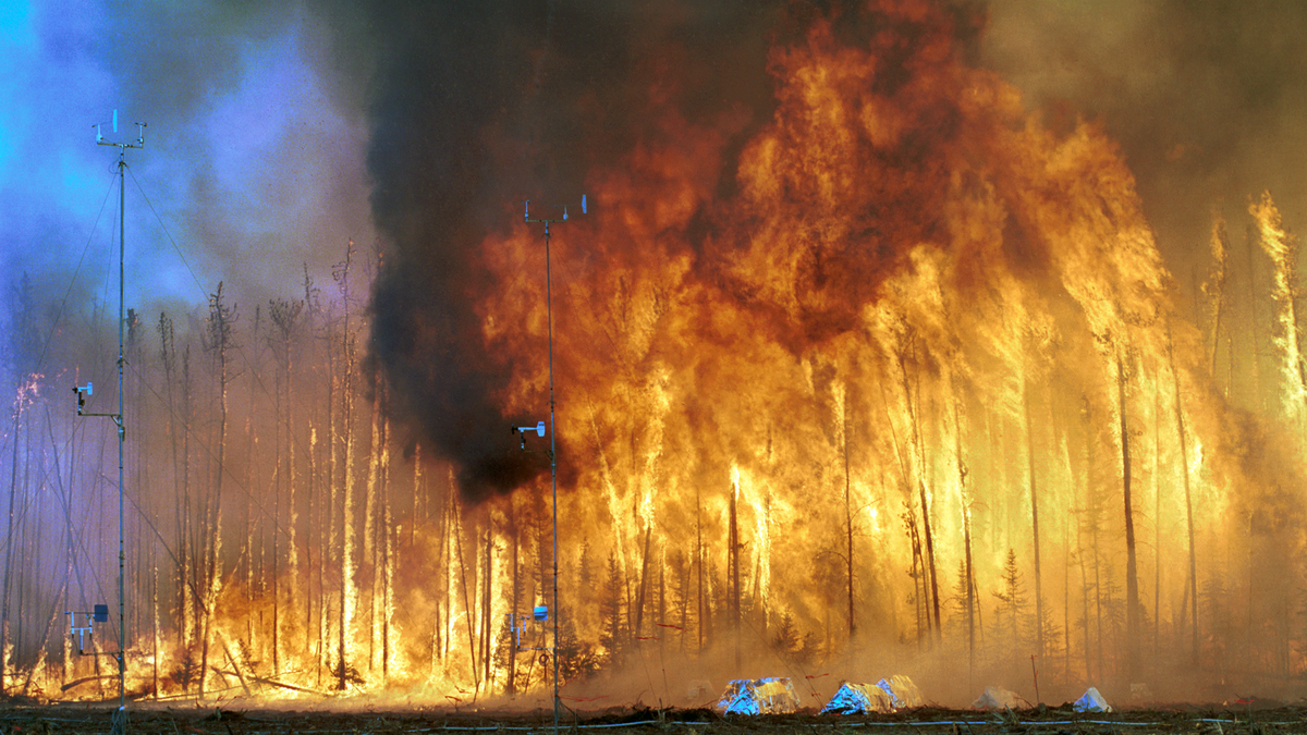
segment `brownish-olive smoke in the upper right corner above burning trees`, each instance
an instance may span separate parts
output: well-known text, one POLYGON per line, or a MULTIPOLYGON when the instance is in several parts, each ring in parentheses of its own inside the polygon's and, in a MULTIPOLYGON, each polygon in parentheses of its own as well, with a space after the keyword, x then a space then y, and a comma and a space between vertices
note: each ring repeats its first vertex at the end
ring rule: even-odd
POLYGON ((1183 288, 1205 268, 1205 207, 1236 220, 1269 190, 1303 221, 1307 7, 1001 0, 988 14, 982 63, 1048 123, 1093 119, 1120 143, 1183 288))

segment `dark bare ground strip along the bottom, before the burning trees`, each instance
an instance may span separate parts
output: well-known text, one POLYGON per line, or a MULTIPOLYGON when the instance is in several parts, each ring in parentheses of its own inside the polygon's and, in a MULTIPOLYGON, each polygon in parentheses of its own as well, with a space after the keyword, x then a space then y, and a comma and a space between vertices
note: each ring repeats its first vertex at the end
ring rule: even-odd
MULTIPOLYGON (((107 734, 112 706, 101 704, 0 705, 0 735, 107 734)), ((128 732, 142 735, 354 735, 548 734, 552 713, 506 713, 408 708, 395 710, 263 709, 251 706, 133 704, 128 732)), ((1112 714, 1077 714, 1069 706, 1018 711, 915 709, 897 714, 836 717, 813 711, 723 718, 706 709, 610 709, 566 711, 569 735, 860 735, 874 732, 1099 735, 1148 732, 1272 734, 1307 732, 1307 706, 1133 709, 1112 714)))

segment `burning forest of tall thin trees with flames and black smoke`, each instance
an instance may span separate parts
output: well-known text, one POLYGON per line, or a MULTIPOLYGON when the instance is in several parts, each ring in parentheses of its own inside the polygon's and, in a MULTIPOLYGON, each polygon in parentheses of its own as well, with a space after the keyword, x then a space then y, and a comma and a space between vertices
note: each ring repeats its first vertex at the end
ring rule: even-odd
MULTIPOLYGON (((605 705, 898 672, 948 705, 1033 672, 1047 701, 1298 696, 1274 182, 1150 203, 1110 120, 979 60, 984 5, 524 12, 332 10, 386 39, 375 237, 273 297, 234 269, 124 305, 129 696, 536 706, 554 651, 605 705), (552 400, 557 437, 512 432, 552 400)), ((167 182, 129 177, 149 212, 167 182)), ((116 412, 114 199, 102 263, 3 276, 12 696, 118 693, 118 429, 71 390, 116 412)))

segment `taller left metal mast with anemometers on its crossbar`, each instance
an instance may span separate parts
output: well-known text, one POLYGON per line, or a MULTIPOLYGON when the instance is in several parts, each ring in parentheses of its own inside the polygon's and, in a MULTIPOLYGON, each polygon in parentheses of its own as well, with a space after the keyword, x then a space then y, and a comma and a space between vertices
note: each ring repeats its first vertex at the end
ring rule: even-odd
MULTIPOLYGON (((112 140, 105 140, 105 133, 101 131, 101 124, 93 126, 95 128, 95 144, 97 145, 111 145, 118 148, 118 413, 85 413, 84 407, 84 394, 90 394, 90 383, 85 388, 73 387, 73 392, 77 394, 77 415, 78 416, 106 416, 114 420, 118 425, 118 710, 114 713, 112 732, 114 735, 125 735, 127 732, 127 599, 125 599, 125 569, 127 569, 127 544, 125 532, 123 526, 124 515, 124 481, 123 481, 123 439, 125 438, 125 428, 123 425, 123 369, 127 365, 127 358, 123 352, 123 331, 127 327, 127 314, 125 314, 125 276, 123 263, 125 260, 125 246, 123 243, 123 234, 125 230, 125 214, 124 203, 127 200, 127 149, 128 148, 145 148, 145 123, 136 123, 136 141, 118 143, 112 140)), ((112 122, 112 135, 118 135, 118 110, 114 110, 112 122)))

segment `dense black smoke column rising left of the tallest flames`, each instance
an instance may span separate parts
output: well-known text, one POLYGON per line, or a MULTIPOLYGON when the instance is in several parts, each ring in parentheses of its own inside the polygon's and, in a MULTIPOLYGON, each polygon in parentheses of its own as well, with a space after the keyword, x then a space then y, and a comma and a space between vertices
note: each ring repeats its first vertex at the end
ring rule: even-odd
POLYGON ((478 265, 486 234, 521 217, 523 199, 537 212, 567 200, 575 212, 584 171, 650 132, 640 116, 650 95, 667 95, 689 119, 755 119, 770 103, 775 16, 754 3, 520 1, 396 3, 367 20, 386 47, 372 211, 392 247, 371 349, 418 439, 461 468, 468 497, 510 490, 548 467, 508 430, 544 417, 546 387, 531 416, 506 416, 497 400, 512 365, 486 350, 474 310, 501 288, 478 265))

